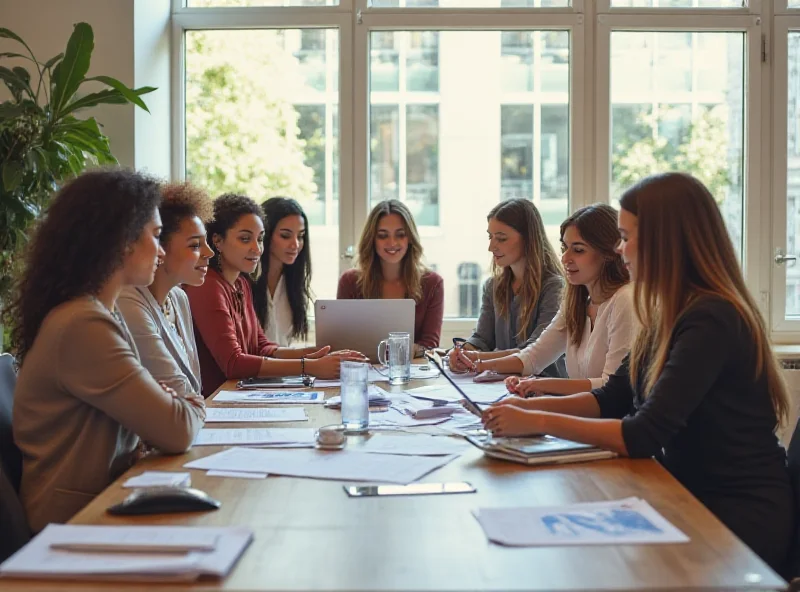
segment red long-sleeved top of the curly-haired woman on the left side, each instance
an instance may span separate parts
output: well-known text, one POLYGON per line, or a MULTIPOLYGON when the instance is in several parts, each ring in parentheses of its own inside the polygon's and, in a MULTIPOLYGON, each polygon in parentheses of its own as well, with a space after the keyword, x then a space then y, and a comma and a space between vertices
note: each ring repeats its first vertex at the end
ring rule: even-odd
POLYGON ((258 322, 250 282, 239 276, 231 285, 209 268, 202 286, 184 289, 192 308, 203 396, 231 378, 258 376, 264 356, 278 345, 267 340, 258 322))

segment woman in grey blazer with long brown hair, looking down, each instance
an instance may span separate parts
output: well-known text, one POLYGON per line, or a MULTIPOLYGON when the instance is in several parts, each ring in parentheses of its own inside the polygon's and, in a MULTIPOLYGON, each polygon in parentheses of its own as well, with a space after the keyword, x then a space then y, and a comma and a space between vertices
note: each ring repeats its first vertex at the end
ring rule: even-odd
MULTIPOLYGON (((493 274, 483 288, 478 327, 462 348, 450 351, 455 372, 473 369, 470 360, 459 356, 460 350, 484 352, 480 359, 492 360, 534 343, 556 316, 564 288, 561 264, 533 202, 500 202, 487 220, 493 274)), ((542 373, 566 376, 563 355, 542 373)))

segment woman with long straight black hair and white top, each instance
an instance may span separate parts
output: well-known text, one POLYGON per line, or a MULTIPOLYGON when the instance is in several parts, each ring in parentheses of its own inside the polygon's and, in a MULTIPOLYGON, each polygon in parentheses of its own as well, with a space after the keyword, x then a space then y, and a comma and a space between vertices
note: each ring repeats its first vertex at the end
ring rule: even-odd
POLYGON ((264 334, 280 347, 308 337, 311 254, 308 218, 297 201, 273 197, 264 210, 261 273, 253 286, 253 304, 264 334))

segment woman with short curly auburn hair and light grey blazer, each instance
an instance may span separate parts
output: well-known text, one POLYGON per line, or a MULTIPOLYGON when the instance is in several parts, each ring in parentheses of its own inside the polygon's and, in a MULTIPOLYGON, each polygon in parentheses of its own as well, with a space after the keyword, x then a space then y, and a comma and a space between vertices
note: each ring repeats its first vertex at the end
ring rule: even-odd
POLYGON ((156 380, 178 394, 199 394, 200 359, 189 299, 181 285, 200 286, 214 251, 206 242, 211 198, 189 183, 161 188, 161 236, 164 258, 149 286, 128 286, 118 306, 130 329, 142 364, 156 380))

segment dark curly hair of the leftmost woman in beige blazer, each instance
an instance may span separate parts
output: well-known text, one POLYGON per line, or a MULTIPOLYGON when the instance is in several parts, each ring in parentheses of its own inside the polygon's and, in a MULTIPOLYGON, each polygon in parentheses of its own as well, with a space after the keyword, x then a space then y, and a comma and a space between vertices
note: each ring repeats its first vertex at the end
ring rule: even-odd
POLYGON ((103 288, 160 203, 156 180, 124 169, 83 173, 58 192, 34 231, 4 311, 20 363, 53 308, 103 288))

